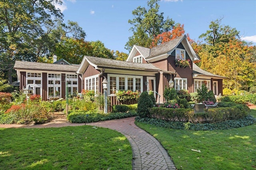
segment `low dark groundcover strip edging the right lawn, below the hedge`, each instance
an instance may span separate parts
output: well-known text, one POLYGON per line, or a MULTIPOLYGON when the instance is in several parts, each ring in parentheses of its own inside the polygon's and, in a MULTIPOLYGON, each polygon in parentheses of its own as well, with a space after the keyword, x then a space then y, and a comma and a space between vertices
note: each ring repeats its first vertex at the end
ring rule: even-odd
POLYGON ((155 125, 164 128, 180 129, 180 130, 192 130, 192 131, 213 131, 220 129, 232 129, 239 127, 246 127, 256 123, 256 118, 248 115, 242 119, 228 120, 220 123, 190 123, 181 121, 167 121, 164 119, 154 119, 148 117, 136 117, 136 121, 146 123, 149 125, 155 125))

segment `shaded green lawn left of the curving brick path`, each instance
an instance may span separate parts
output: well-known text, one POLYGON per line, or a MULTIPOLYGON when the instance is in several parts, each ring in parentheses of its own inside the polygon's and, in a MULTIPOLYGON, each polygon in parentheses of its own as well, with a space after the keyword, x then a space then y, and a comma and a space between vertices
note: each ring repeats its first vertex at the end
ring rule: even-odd
POLYGON ((0 169, 128 170, 132 149, 124 135, 92 126, 0 128, 0 169))

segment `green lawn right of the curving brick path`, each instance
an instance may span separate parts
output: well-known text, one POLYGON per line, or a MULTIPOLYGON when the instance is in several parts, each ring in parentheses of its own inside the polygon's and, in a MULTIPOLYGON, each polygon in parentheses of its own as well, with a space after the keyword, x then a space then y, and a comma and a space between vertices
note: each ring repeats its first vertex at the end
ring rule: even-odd
MULTIPOLYGON (((256 109, 250 114, 256 117, 256 109)), ((179 170, 256 170, 256 124, 216 131, 136 125, 160 141, 179 170)))

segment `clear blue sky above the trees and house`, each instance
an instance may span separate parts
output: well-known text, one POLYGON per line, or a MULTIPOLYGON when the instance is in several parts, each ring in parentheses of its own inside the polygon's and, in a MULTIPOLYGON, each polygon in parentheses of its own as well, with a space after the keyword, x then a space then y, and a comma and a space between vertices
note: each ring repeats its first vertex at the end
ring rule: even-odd
MULTIPOLYGON (((86 32, 86 41, 100 40, 110 50, 129 53, 124 46, 129 31, 128 20, 138 6, 147 8, 147 0, 62 0, 58 6, 64 22, 71 20, 86 32)), ((185 34, 198 40, 210 22, 222 18, 222 25, 240 31, 242 39, 256 45, 256 0, 161 0, 159 12, 164 18, 184 24, 185 34)))

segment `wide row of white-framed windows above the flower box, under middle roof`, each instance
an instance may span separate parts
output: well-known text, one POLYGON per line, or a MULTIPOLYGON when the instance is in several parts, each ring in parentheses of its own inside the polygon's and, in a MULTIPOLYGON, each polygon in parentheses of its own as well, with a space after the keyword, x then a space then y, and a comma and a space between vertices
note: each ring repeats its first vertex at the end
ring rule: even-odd
POLYGON ((139 92, 142 92, 142 80, 142 76, 108 74, 108 94, 114 95, 118 90, 138 90, 139 92))

